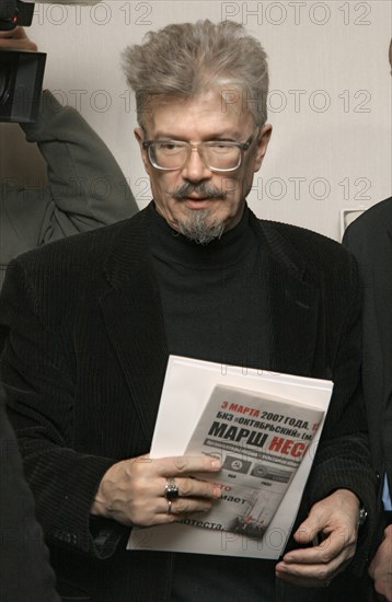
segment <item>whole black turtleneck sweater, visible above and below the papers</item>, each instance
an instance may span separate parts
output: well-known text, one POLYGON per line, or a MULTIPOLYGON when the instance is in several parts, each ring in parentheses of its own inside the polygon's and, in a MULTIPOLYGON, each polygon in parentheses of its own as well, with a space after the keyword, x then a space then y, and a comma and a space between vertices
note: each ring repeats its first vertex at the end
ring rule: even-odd
MULTIPOLYGON (((151 205, 152 255, 169 352, 263 368, 268 324, 261 250, 250 210, 207 245, 175 232, 151 205)), ((172 602, 270 602, 275 563, 177 554, 172 602)))

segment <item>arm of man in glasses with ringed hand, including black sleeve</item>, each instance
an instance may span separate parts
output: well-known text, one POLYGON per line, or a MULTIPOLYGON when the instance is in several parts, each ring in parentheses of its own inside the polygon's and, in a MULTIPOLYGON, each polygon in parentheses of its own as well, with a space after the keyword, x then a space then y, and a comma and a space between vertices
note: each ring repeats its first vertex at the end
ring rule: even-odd
MULTIPOLYGON (((43 282, 35 286, 24 267, 23 258, 10 265, 0 296, 4 327, 0 335, 7 336, 9 331, 2 378, 10 419, 48 543, 106 558, 134 524, 169 523, 180 520, 182 513, 208 510, 220 490, 212 483, 188 478, 188 474, 218 471, 215 459, 130 458, 118 462, 90 453, 92 448, 101 448, 101 441, 92 439, 88 447, 79 441, 74 422, 85 408, 82 403, 78 405, 74 391, 74 349, 65 340, 72 325, 62 329, 57 319, 53 322, 58 300, 56 306, 45 305, 54 287, 48 282, 48 292, 39 297, 37 289, 43 282), (180 477, 181 499, 173 501, 172 512, 164 496, 168 476, 180 477)), ((28 270, 32 273, 34 268, 28 270)), ((47 271, 42 273, 44 281, 47 276, 47 271)), ((67 321, 66 308, 57 316, 67 321)))

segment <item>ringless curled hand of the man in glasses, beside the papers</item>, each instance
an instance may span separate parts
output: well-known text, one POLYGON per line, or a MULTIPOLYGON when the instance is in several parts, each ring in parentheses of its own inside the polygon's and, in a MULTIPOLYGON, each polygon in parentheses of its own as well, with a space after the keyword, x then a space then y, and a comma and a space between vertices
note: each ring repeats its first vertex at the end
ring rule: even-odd
POLYGON ((300 544, 319 544, 288 552, 276 565, 279 579, 296 586, 326 587, 353 558, 358 532, 359 500, 348 489, 337 489, 315 503, 295 533, 300 544))

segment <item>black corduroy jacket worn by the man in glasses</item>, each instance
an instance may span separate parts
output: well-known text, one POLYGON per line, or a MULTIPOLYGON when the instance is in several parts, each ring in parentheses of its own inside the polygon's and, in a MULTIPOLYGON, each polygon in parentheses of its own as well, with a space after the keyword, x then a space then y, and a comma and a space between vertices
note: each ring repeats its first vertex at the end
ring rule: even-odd
MULTIPOLYGON (((141 211, 19 257, 0 299, 3 335, 10 332, 3 356, 10 416, 38 516, 60 578, 94 602, 155 602, 170 588, 170 554, 127 553, 126 528, 89 521, 105 471, 149 451, 166 367, 147 220, 141 211)), ((376 479, 360 432, 356 264, 313 232, 251 220, 272 332, 269 366, 261 368, 335 382, 299 518, 347 487, 365 502, 371 530, 376 479)), ((358 568, 367 549, 364 537, 358 568)))

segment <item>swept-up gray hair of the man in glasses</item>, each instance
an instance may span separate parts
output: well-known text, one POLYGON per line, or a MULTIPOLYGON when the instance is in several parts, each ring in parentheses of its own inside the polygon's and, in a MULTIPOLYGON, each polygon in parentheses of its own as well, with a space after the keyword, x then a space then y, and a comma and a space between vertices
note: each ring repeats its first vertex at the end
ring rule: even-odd
POLYGON ((267 119, 267 56, 239 23, 206 20, 149 32, 143 44, 126 48, 123 68, 136 94, 141 127, 153 99, 191 99, 219 83, 239 89, 255 125, 267 119))

